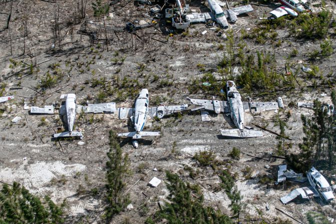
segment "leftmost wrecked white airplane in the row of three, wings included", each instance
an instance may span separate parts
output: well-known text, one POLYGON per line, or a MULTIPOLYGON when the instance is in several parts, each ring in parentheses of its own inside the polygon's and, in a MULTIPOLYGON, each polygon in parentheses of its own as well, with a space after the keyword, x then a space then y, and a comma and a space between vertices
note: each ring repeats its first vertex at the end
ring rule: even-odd
MULTIPOLYGON (((65 104, 59 108, 59 114, 66 116, 68 131, 54 134, 54 138, 59 137, 79 137, 83 138, 83 133, 74 131, 74 123, 76 114, 84 113, 113 113, 116 111, 115 103, 99 103, 88 104, 88 106, 77 105, 75 94, 62 94, 60 99, 65 99, 65 104)), ((55 107, 53 105, 41 107, 31 107, 31 114, 54 114, 55 107)))

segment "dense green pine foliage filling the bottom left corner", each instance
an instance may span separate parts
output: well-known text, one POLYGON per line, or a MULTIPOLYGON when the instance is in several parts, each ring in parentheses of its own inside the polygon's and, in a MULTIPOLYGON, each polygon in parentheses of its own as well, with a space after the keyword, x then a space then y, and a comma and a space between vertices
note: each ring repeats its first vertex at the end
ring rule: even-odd
POLYGON ((41 200, 20 183, 4 184, 0 191, 0 223, 64 223, 65 205, 65 201, 56 205, 49 196, 41 200))

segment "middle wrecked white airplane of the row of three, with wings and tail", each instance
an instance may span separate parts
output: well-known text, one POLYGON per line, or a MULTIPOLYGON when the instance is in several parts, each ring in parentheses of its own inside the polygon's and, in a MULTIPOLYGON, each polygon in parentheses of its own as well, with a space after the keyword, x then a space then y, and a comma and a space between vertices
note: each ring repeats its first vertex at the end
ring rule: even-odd
POLYGON ((173 113, 181 112, 187 110, 188 105, 175 105, 175 106, 158 106, 149 107, 149 94, 147 89, 142 89, 138 98, 135 101, 134 108, 117 108, 117 113, 119 113, 119 119, 131 118, 135 131, 118 133, 119 137, 130 137, 133 138, 133 146, 138 147, 138 141, 143 136, 158 136, 159 131, 143 131, 146 124, 147 117, 158 117, 162 118, 173 113))

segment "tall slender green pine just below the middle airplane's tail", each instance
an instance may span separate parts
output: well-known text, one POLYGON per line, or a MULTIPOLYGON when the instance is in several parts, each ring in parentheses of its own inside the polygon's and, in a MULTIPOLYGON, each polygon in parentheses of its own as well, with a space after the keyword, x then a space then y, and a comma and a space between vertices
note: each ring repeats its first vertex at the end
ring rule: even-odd
POLYGON ((129 195, 124 194, 126 187, 125 179, 129 175, 128 154, 123 155, 117 135, 110 131, 110 151, 107 153, 109 161, 107 166, 107 201, 106 217, 111 219, 115 214, 124 210, 130 203, 129 195))

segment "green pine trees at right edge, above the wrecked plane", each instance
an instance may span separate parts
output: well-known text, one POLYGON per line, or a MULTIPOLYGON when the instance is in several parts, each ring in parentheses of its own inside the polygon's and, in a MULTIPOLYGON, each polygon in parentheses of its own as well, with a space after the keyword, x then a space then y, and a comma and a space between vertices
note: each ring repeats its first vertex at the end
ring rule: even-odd
MULTIPOLYGON (((331 98, 336 105, 336 92, 331 93, 331 98)), ((314 101, 313 110, 311 119, 301 115, 304 137, 299 144, 300 153, 287 156, 293 168, 300 171, 323 164, 331 169, 336 164, 336 117, 318 100, 314 101)))

